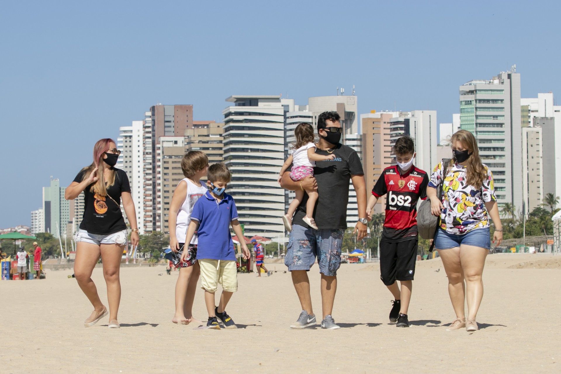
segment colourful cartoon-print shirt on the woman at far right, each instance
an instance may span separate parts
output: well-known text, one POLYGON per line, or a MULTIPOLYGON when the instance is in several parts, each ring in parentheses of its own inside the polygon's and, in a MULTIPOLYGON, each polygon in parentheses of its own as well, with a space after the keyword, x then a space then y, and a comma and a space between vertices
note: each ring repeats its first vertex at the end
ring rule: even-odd
MULTIPOLYGON (((461 235, 473 229, 488 228, 489 217, 485 202, 496 201, 493 174, 487 165, 487 178, 477 190, 466 180, 466 168, 460 164, 448 167, 443 183, 443 213, 440 215, 440 228, 448 234, 461 235)), ((436 188, 442 183, 442 162, 433 170, 429 187, 436 188)))

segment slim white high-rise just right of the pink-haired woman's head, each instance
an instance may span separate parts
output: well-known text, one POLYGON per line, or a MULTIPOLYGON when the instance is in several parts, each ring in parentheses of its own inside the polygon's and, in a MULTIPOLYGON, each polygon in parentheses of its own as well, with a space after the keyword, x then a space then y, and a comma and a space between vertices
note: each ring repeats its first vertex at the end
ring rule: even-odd
MULTIPOLYGON (((132 121, 131 126, 119 127, 117 138, 117 149, 121 155, 117 160, 116 167, 127 173, 128 182, 131 185, 132 201, 135 204, 136 222, 141 234, 144 234, 144 121, 132 121)), ((121 210, 122 207, 121 207, 121 210)), ((128 220, 125 216, 125 221, 128 220)))

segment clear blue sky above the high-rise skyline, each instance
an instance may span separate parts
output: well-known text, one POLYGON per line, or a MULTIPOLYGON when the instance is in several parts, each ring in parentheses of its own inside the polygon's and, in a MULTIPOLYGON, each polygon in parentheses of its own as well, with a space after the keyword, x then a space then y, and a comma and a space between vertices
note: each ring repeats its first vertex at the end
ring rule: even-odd
POLYGON ((156 103, 219 121, 233 94, 351 94, 359 111, 458 112, 458 86, 512 64, 561 95, 558 2, 3 2, 0 228, 30 224, 95 141, 156 103))

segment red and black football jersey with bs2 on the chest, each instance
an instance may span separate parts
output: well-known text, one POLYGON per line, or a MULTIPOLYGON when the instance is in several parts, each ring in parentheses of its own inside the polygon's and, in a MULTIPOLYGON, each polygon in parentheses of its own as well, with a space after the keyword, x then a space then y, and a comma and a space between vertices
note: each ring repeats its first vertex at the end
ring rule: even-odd
POLYGON ((404 174, 397 165, 384 169, 372 189, 374 196, 388 194, 383 240, 401 242, 417 236, 417 201, 425 200, 428 184, 428 174, 415 165, 404 174))

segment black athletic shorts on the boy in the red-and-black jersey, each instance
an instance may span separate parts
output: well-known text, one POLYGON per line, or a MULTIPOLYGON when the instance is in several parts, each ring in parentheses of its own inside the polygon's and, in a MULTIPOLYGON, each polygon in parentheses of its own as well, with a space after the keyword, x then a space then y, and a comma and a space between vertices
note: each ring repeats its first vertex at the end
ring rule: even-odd
POLYGON ((380 279, 389 286, 396 280, 413 280, 418 239, 403 242, 380 241, 380 279))

